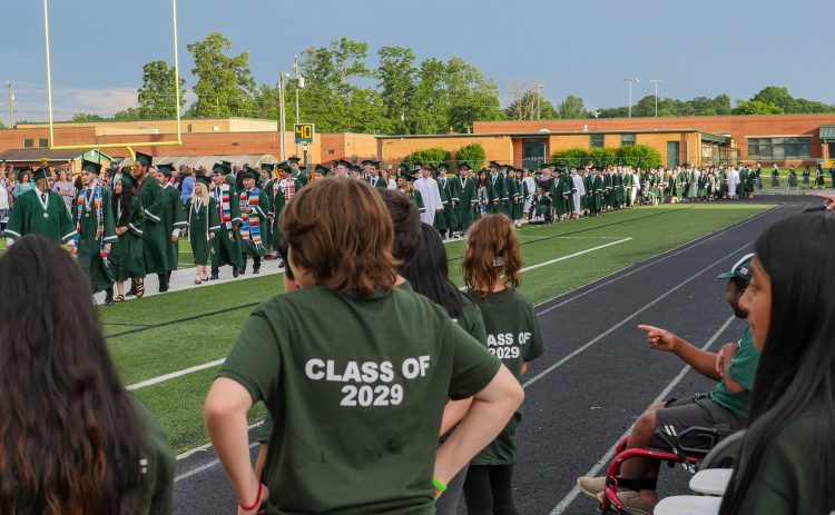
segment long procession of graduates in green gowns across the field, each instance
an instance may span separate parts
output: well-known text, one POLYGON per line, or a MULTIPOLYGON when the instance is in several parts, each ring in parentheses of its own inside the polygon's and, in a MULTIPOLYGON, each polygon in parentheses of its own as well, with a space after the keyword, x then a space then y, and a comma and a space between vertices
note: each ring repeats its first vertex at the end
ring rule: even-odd
POLYGON ((762 188, 759 166, 641 170, 543 164, 532 171, 491 161, 478 174, 470 164, 456 162, 451 174, 445 164, 404 162, 390 175, 371 159, 361 165, 337 160, 310 171, 299 161, 289 158, 258 169, 218 161, 191 177, 190 169, 155 167, 151 156, 137 152, 134 164, 120 169, 102 170, 85 160, 75 186, 62 171, 53 186, 43 162, 24 170, 33 186, 18 196, 4 236, 10 245, 27 234, 67 244, 87 271, 91 291, 105 291, 111 305, 143 297, 151 274, 159 291, 167 291, 179 265, 180 238, 190 242, 197 285, 218 279, 225 266, 233 277, 246 274, 249 259, 252 273, 258 274, 263 260, 278 259, 284 207, 308 182, 328 175, 404 195, 442 239, 463 237, 489 214, 505 215, 519 227, 638 205, 753 198, 762 188))

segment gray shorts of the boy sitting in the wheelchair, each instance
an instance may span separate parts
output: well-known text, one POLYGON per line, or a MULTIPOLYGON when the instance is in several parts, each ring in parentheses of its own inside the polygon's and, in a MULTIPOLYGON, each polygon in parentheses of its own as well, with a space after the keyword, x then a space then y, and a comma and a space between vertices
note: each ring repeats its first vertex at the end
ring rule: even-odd
MULTIPOLYGON (((665 407, 656 412, 656 435, 652 437, 650 447, 657 449, 669 449, 670 446, 658 433, 662 433, 671 443, 677 442, 677 436, 689 427, 713 428, 725 426, 731 432, 744 429, 747 419, 738 417, 730 409, 719 406, 707 394, 698 394, 682 399, 671 399, 665 407)), ((682 438, 681 444, 695 448, 708 450, 710 440, 706 437, 682 438)))

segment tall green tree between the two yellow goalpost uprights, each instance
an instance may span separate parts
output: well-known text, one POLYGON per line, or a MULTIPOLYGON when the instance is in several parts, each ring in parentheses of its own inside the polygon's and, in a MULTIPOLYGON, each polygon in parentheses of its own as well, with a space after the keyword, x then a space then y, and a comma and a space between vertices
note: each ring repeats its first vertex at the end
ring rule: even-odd
POLYGON ((176 118, 186 105, 186 79, 179 78, 179 106, 174 91, 175 68, 165 61, 146 62, 143 67, 143 87, 137 91, 139 117, 149 119, 176 118))

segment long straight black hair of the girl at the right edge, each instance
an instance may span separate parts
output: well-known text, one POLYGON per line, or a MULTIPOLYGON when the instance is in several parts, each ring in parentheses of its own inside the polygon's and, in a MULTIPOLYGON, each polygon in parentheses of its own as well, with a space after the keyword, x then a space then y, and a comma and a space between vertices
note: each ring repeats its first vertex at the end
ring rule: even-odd
POLYGON ((740 464, 740 474, 734 474, 721 514, 739 513, 769 446, 811 406, 821 409, 815 434, 804 445, 817 450, 815 463, 804 466, 813 467, 818 486, 803 495, 814 513, 832 509, 825 503, 835 488, 835 477, 827 472, 835 447, 834 241, 835 216, 816 212, 774 224, 755 244, 757 259, 770 278, 770 320, 743 444, 748 460, 740 464))

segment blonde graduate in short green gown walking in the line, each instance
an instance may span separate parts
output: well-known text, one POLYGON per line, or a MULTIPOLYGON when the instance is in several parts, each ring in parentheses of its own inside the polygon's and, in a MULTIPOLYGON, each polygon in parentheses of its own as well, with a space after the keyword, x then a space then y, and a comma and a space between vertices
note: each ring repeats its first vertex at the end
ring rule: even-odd
POLYGON ((206 176, 197 177, 191 198, 186 204, 188 241, 196 266, 195 284, 208 280, 208 263, 212 256, 212 240, 220 231, 220 212, 217 202, 209 196, 212 181, 206 176))

